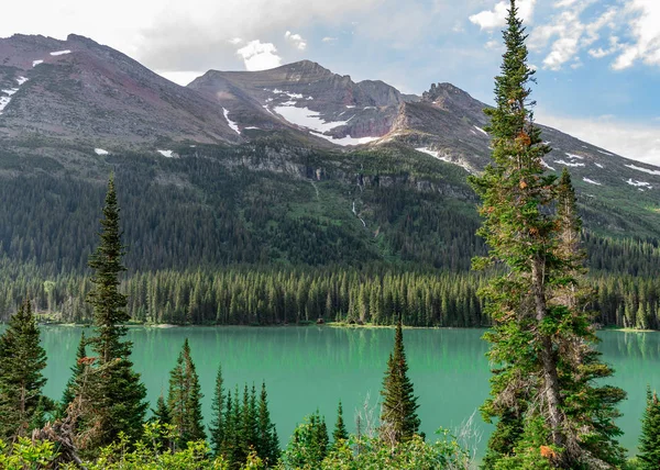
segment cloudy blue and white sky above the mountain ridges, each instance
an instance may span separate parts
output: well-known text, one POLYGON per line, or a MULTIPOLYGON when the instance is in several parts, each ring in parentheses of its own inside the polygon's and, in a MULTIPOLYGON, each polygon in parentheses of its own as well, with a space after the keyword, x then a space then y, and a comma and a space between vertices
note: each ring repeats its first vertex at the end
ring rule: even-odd
MULTIPOLYGON (((537 121, 660 165, 660 0, 518 0, 537 121)), ((486 103, 508 0, 32 0, 0 37, 81 34, 182 85, 209 69, 315 60, 403 92, 451 82, 486 103)))

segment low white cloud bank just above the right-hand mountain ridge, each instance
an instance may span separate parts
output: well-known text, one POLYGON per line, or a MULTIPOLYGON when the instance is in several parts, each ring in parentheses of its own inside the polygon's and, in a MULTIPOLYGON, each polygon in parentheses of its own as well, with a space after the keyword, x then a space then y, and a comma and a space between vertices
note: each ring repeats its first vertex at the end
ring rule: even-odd
POLYGON ((623 157, 660 166, 660 123, 635 124, 604 115, 565 118, 537 109, 539 123, 563 131, 623 157))

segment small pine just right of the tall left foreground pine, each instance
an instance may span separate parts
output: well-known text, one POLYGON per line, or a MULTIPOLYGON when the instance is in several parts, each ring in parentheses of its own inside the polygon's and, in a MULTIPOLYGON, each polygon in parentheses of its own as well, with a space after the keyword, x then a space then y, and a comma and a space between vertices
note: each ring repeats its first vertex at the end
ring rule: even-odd
POLYGON ((178 438, 176 446, 185 448, 191 440, 206 439, 201 416, 201 388, 195 363, 190 357, 188 338, 178 356, 176 366, 169 372, 167 409, 178 438))

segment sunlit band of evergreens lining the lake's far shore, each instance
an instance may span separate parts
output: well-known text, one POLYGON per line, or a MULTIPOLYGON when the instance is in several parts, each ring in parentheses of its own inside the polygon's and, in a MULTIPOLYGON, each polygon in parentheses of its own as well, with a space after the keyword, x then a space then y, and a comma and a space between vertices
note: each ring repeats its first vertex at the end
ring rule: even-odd
MULTIPOLYGON (((43 280, 35 267, 0 261, 0 318, 25 295, 43 321, 91 322, 89 278, 43 280)), ((122 282, 134 322, 278 325, 316 322, 411 326, 488 326, 477 273, 392 271, 384 268, 230 267, 213 271, 139 272, 122 282)), ((660 278, 594 275, 590 307, 603 326, 660 329, 660 278)))

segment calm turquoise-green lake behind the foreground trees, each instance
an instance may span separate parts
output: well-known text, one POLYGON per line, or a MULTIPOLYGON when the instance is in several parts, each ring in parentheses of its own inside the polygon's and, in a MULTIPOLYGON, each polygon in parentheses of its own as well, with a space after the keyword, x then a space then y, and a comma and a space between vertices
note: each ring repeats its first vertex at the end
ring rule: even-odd
MULTIPOLYGON (((45 392, 58 399, 69 378, 82 328, 42 327, 48 355, 45 392)), ((487 349, 479 329, 406 329, 404 338, 409 376, 419 396, 422 430, 432 437, 442 426, 464 423, 488 393, 487 349)), ((628 400, 618 424, 622 443, 635 451, 646 387, 660 389, 660 334, 602 332, 598 348, 616 369, 610 383, 624 388, 628 400)), ((353 429, 354 411, 370 400, 377 405, 394 329, 307 327, 180 327, 131 328, 133 360, 142 374, 152 403, 167 393, 168 372, 189 338, 200 377, 205 417, 210 421, 212 387, 218 365, 227 387, 245 382, 261 387, 265 380, 272 417, 280 440, 286 443, 296 423, 317 409, 329 428, 341 399, 344 418, 353 429)), ((491 427, 474 423, 483 433, 483 450, 491 427)), ((481 454, 480 450, 480 454, 481 454)))

